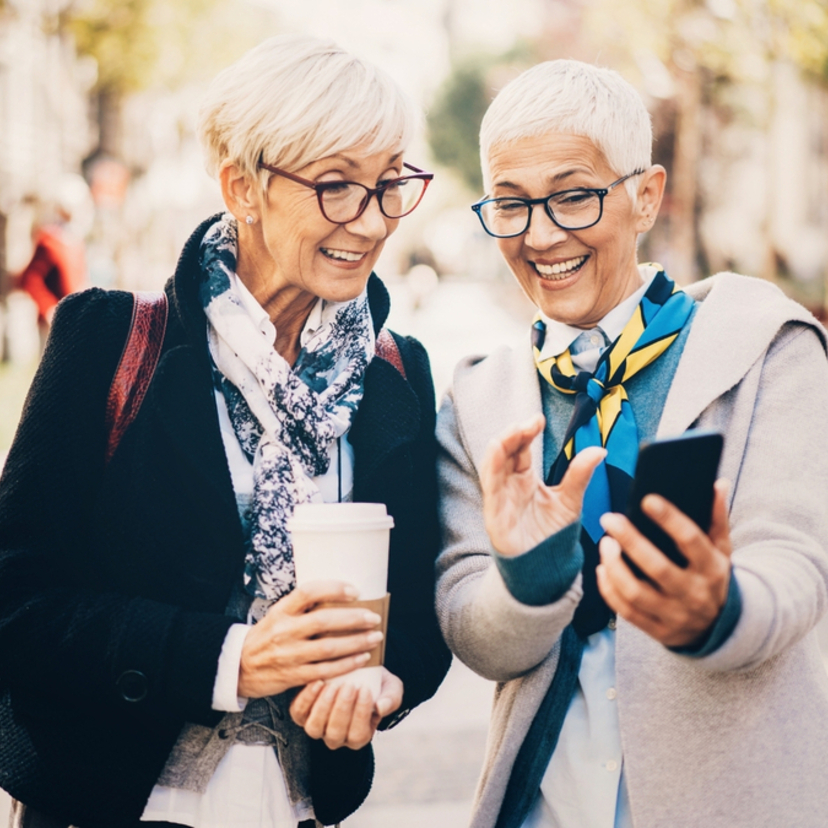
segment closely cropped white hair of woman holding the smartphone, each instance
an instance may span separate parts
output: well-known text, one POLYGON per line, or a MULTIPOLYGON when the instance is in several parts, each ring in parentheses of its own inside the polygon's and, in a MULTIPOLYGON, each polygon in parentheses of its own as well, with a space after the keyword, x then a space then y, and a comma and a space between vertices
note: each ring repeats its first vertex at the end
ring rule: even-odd
MULTIPOLYGON (((652 163, 653 129, 644 101, 618 72, 579 60, 539 63, 508 83, 480 125, 486 186, 493 148, 551 132, 582 135, 618 176, 652 163)), ((634 198, 637 182, 627 182, 634 198)))

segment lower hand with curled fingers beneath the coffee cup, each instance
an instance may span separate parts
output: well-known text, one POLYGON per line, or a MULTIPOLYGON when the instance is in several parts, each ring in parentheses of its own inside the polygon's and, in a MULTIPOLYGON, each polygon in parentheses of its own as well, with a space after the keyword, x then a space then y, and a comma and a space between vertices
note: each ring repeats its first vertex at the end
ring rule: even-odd
POLYGON ((303 688, 291 702, 290 715, 312 739, 324 739, 336 750, 359 750, 374 737, 377 725, 402 704, 403 683, 385 667, 376 704, 367 687, 351 684, 331 687, 315 681, 303 688))

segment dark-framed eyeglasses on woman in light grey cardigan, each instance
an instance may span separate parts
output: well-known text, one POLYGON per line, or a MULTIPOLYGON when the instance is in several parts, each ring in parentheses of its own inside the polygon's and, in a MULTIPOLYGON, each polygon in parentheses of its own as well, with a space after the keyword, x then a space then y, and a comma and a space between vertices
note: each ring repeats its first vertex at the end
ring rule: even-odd
POLYGON ((546 215, 562 230, 586 230, 601 221, 604 197, 609 191, 643 172, 643 169, 631 172, 606 187, 577 187, 543 198, 483 198, 472 204, 472 210, 477 213, 483 229, 497 239, 511 239, 525 233, 536 204, 543 204, 546 215))

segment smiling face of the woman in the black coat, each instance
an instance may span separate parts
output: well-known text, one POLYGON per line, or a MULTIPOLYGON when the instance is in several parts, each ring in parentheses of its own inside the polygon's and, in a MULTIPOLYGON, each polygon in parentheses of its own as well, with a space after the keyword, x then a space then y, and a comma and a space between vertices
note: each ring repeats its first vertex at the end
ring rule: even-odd
MULTIPOLYGON (((403 174, 402 155, 346 151, 292 172, 314 182, 376 187, 403 174)), ((225 176, 232 179, 232 173, 225 176)), ((241 177, 228 183, 222 179, 225 201, 239 222, 238 274, 265 309, 275 309, 271 317, 287 306, 309 309, 316 297, 344 302, 359 296, 399 223, 380 212, 376 197, 357 219, 337 225, 322 215, 314 190, 287 178, 273 175, 266 194, 241 177), (237 203, 228 199, 228 189, 241 194, 237 203)))

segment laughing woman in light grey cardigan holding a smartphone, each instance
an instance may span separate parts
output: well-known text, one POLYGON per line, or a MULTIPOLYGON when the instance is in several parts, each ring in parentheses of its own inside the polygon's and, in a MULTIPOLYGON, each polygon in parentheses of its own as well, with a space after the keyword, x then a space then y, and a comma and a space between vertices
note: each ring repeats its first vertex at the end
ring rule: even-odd
POLYGON ((632 86, 568 60, 481 127, 472 209, 537 315, 458 367, 438 416, 438 616, 499 682, 473 828, 828 813, 825 331, 767 282, 681 290, 638 262, 666 179, 651 142, 632 86), (642 500, 681 567, 623 513, 639 442, 691 428, 724 435, 710 530, 642 500))

